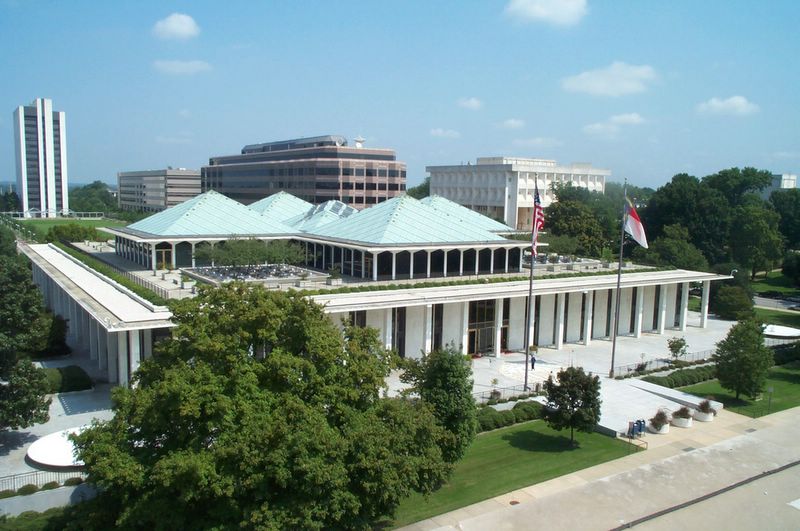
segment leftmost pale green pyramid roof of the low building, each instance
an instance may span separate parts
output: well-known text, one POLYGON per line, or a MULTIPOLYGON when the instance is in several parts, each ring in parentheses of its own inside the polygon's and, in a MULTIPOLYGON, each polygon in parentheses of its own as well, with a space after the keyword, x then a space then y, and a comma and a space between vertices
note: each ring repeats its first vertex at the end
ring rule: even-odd
POLYGON ((128 225, 124 232, 155 236, 256 236, 296 231, 213 190, 128 225))

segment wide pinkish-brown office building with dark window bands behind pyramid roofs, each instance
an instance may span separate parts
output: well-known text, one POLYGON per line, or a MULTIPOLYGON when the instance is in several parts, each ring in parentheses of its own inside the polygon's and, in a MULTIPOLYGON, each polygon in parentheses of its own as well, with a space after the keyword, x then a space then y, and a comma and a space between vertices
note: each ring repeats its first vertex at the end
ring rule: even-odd
POLYGON ((406 189, 406 165, 392 149, 348 146, 328 135, 242 148, 212 157, 201 170, 202 191, 215 190, 245 205, 280 191, 314 204, 337 200, 362 209, 406 189))

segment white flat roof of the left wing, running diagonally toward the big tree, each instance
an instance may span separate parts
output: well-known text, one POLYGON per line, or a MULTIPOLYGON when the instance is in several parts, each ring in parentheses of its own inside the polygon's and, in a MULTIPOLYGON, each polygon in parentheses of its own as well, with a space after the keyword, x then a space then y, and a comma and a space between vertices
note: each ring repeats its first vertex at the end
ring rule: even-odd
POLYGON ((107 331, 174 326, 167 308, 142 299, 58 247, 22 244, 20 249, 107 331))

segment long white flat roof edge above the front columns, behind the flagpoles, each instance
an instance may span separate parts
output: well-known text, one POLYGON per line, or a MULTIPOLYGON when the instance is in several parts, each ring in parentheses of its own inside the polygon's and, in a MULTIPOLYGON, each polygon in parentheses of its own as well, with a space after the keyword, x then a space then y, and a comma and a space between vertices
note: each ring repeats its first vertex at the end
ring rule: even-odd
MULTIPOLYGON (((728 275, 702 273, 673 269, 670 271, 642 271, 622 274, 621 287, 657 286, 679 284, 682 282, 701 282, 704 280, 725 280, 728 275)), ((446 279, 441 279, 446 282, 446 279)), ((454 277, 453 280, 459 280, 454 277)), ((565 278, 534 278, 534 295, 554 293, 574 293, 616 289, 617 274, 587 275, 565 278)), ((408 288, 385 291, 364 291, 358 293, 331 293, 313 295, 310 298, 325 307, 327 313, 351 312, 356 310, 375 310, 400 306, 424 306, 427 304, 446 304, 475 300, 527 297, 528 280, 511 282, 491 282, 481 284, 450 285, 434 288, 408 288)))

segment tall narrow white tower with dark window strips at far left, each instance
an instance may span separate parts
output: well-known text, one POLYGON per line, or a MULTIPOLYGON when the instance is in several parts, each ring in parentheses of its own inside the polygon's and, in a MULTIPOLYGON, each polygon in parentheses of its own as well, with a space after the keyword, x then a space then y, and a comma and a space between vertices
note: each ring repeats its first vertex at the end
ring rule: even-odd
POLYGON ((25 217, 69 211, 67 124, 53 102, 37 98, 14 111, 17 194, 25 217))

